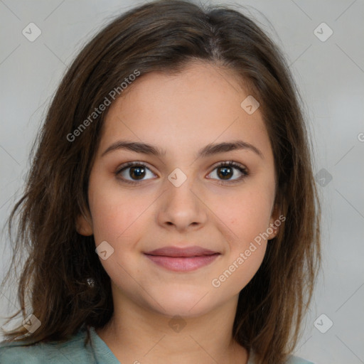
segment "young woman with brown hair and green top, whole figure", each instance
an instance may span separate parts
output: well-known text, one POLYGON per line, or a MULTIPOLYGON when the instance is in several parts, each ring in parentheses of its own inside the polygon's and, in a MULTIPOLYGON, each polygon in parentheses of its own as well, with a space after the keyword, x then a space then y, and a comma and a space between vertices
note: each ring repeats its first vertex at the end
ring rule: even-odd
POLYGON ((116 18, 63 77, 10 216, 29 256, 0 362, 309 363, 291 354, 320 263, 310 153, 250 18, 116 18))

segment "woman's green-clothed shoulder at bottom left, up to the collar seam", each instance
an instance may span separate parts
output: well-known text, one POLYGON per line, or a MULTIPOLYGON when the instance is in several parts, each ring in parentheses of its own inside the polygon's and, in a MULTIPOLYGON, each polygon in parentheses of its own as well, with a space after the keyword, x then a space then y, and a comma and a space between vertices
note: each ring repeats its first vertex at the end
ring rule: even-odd
POLYGON ((1 364, 70 364, 94 363, 92 350, 85 347, 85 331, 79 331, 64 342, 36 343, 31 346, 24 342, 1 342, 1 364))

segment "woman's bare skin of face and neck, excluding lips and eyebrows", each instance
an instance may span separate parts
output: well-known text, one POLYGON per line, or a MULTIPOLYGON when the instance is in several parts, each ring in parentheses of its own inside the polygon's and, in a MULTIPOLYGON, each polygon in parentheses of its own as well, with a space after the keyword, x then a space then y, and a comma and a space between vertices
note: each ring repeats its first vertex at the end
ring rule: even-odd
POLYGON ((195 62, 178 75, 141 76, 109 107, 90 174, 90 214, 79 217, 77 230, 93 234, 96 246, 107 241, 114 249, 100 259, 112 281, 114 315, 97 333, 121 363, 247 363, 249 353, 232 339, 238 294, 277 229, 220 287, 211 282, 279 216, 262 114, 240 107, 248 95, 232 73, 195 62), (116 149, 102 156, 121 139, 153 144, 166 154, 116 149), (207 144, 237 139, 262 156, 237 149, 196 158, 207 144), (129 161, 146 164, 144 179, 131 177, 130 168, 116 174, 129 161), (242 173, 233 168, 224 180, 216 164, 225 161, 244 166, 248 176, 239 180, 242 173), (175 168, 187 176, 179 187, 168 180, 175 168), (169 271, 144 255, 171 245, 198 245, 220 255, 193 272, 169 271))

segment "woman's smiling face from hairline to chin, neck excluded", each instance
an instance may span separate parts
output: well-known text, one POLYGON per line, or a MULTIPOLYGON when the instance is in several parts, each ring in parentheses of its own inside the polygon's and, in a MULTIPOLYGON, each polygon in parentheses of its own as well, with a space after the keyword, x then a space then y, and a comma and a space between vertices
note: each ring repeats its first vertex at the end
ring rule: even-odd
POLYGON ((110 106, 77 230, 101 244, 114 302, 197 316, 237 301, 257 272, 277 215, 272 149, 259 108, 240 106, 248 95, 235 75, 193 63, 139 77, 110 106))

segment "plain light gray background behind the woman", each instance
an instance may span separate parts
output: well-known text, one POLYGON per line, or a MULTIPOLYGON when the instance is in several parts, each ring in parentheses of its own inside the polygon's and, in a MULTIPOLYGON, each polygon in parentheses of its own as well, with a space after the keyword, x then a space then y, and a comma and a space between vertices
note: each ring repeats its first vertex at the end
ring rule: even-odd
MULTIPOLYGON (((60 77, 101 26, 142 2, 0 0, 1 226, 20 196, 31 143, 60 77), (31 22, 42 32, 33 42, 22 34, 31 22)), ((323 272, 296 355, 316 364, 364 363, 364 2, 204 2, 244 6, 235 5, 284 51, 305 100, 323 201, 323 272), (333 31, 325 41, 317 37, 329 35, 323 22, 333 31)), ((1 279, 11 248, 6 235, 0 244, 1 279)), ((0 316, 17 308, 14 291, 0 292, 0 316)))

